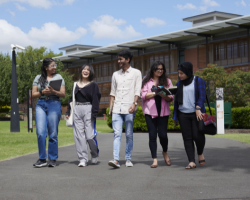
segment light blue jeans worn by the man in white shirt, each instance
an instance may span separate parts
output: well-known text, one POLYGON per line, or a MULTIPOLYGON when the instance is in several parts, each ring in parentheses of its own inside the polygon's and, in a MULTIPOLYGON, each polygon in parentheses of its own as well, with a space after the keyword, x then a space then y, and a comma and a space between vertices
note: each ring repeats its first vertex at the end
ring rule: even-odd
POLYGON ((131 155, 133 150, 134 118, 135 118, 135 112, 131 114, 116 114, 116 113, 112 114, 112 127, 114 130, 113 156, 115 160, 119 161, 123 122, 125 122, 125 133, 126 133, 125 160, 131 160, 131 155))

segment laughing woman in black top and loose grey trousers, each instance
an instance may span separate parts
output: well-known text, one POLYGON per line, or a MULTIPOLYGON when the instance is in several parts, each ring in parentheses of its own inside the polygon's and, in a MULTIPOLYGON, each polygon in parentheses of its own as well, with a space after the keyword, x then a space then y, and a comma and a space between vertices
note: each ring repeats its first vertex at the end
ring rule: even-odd
MULTIPOLYGON (((94 69, 91 65, 83 65, 79 81, 76 84, 74 95, 76 104, 74 107, 73 116, 73 132, 76 145, 76 152, 78 155, 78 167, 85 167, 88 163, 88 148, 89 144, 91 150, 91 162, 97 164, 99 149, 96 140, 96 116, 99 111, 99 102, 101 93, 98 85, 93 82, 94 69)), ((72 96, 68 102, 66 118, 70 115, 70 103, 72 96)))

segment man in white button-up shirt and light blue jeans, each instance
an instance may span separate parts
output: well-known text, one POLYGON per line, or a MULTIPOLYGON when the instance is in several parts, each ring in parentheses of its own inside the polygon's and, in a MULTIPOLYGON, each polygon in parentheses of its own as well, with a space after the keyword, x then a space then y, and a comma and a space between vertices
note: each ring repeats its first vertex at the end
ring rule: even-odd
POLYGON ((133 55, 131 52, 125 50, 120 51, 118 53, 118 64, 121 69, 114 72, 112 76, 110 109, 112 109, 112 126, 114 130, 114 159, 109 161, 108 164, 114 168, 120 167, 119 154, 123 122, 125 123, 126 132, 125 165, 126 167, 133 166, 131 162, 133 150, 133 125, 137 102, 141 91, 142 75, 140 70, 130 66, 132 58, 133 55))

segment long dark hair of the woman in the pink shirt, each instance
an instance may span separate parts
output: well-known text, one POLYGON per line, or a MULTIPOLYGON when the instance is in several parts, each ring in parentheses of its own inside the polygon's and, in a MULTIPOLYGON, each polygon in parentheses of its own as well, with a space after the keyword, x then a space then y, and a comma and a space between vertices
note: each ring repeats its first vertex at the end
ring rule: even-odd
POLYGON ((154 77, 154 72, 157 70, 158 66, 162 65, 163 67, 163 74, 159 77, 159 83, 158 85, 161 86, 168 86, 167 82, 167 74, 166 74, 166 68, 165 65, 161 61, 154 61, 154 63, 151 65, 151 68, 148 70, 145 78, 142 81, 142 88, 143 86, 151 79, 154 77))

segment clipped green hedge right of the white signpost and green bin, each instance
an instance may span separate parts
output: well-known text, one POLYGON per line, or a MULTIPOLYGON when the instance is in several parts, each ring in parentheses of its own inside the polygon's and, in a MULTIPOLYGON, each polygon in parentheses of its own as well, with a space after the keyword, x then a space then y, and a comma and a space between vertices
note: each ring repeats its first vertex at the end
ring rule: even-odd
POLYGON ((231 128, 250 128, 250 107, 232 108, 231 128))

